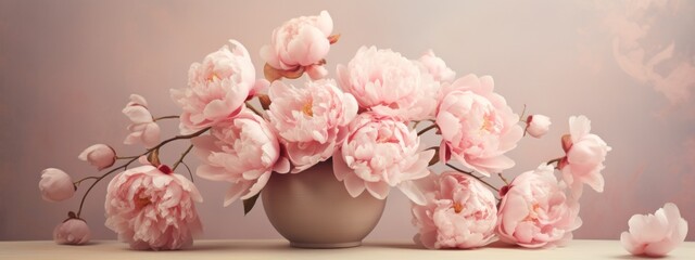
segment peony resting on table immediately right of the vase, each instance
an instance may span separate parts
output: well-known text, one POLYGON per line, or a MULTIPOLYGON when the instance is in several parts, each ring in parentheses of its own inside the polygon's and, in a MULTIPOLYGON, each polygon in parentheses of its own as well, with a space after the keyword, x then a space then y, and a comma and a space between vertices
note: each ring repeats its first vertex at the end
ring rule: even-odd
POLYGON ((495 240, 497 202, 492 192, 455 171, 433 179, 427 205, 413 205, 413 221, 419 229, 415 242, 439 249, 476 248, 495 240))

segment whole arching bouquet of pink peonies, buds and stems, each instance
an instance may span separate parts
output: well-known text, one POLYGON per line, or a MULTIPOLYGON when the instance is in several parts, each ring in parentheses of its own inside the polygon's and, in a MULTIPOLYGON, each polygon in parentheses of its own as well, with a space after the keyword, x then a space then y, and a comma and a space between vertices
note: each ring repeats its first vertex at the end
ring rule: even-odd
MULTIPOLYGON (((202 196, 177 173, 188 168, 190 152, 201 162, 195 174, 228 182, 224 205, 243 200, 247 212, 270 178, 302 174, 332 159, 336 179, 353 197, 403 192, 413 202, 415 240, 427 248, 476 248, 497 239, 539 248, 572 238, 581 225, 583 184, 603 191, 601 171, 610 151, 590 132, 586 117, 569 118, 570 133, 559 142, 564 154, 511 179, 507 170, 515 161, 506 153, 525 135, 544 135, 548 117, 515 114, 492 77, 457 78, 432 51, 410 60, 362 47, 331 78, 326 57, 339 38, 326 11, 286 22, 261 49, 261 79, 244 46, 230 40, 190 66, 187 87, 170 91, 180 115, 155 117, 144 98, 130 96, 123 109, 131 121, 124 143, 144 146, 141 154, 92 145, 78 158, 110 170, 74 182, 62 170, 46 169, 43 197, 67 199, 94 180, 87 196, 115 174, 104 205, 106 226, 135 249, 179 249, 202 230, 195 211, 202 196), (304 75, 302 83, 288 80, 304 75), (165 119, 178 119, 179 135, 162 139, 157 122, 165 119), (428 131, 438 138, 432 146, 420 138, 428 131), (190 146, 173 164, 161 161, 160 151, 174 141, 190 146), (114 167, 116 160, 125 162, 114 167), (435 164, 451 170, 432 172, 435 164), (506 185, 495 187, 486 178, 506 185)), ((89 239, 80 219, 84 198, 55 229, 56 243, 89 239)))

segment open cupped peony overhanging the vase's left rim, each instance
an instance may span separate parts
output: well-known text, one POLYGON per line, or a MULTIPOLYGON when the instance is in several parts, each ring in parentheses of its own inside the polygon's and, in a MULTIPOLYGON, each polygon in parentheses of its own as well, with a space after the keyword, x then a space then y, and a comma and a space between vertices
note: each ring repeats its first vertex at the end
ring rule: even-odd
POLYGON ((231 183, 225 206, 258 194, 273 171, 290 170, 276 134, 263 118, 249 110, 216 123, 210 134, 191 142, 203 160, 195 173, 207 180, 231 183))

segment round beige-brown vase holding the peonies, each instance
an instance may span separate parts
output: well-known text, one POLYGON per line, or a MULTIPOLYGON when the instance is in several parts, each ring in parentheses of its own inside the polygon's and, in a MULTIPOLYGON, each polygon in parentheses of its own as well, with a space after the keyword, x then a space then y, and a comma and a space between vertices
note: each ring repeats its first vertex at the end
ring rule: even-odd
POLYGON ((353 198, 336 179, 332 160, 300 173, 273 173, 261 194, 275 230, 293 247, 342 248, 362 245, 377 225, 386 199, 368 192, 353 198))

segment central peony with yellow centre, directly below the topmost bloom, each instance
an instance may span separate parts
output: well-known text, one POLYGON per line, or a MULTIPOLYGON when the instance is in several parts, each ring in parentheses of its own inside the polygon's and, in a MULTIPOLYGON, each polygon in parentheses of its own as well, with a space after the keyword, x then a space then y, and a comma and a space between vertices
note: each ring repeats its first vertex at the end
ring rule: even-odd
POLYGON ((334 80, 309 81, 304 88, 275 81, 268 95, 273 101, 268 118, 294 167, 292 172, 330 158, 357 116, 355 98, 343 93, 334 80))

